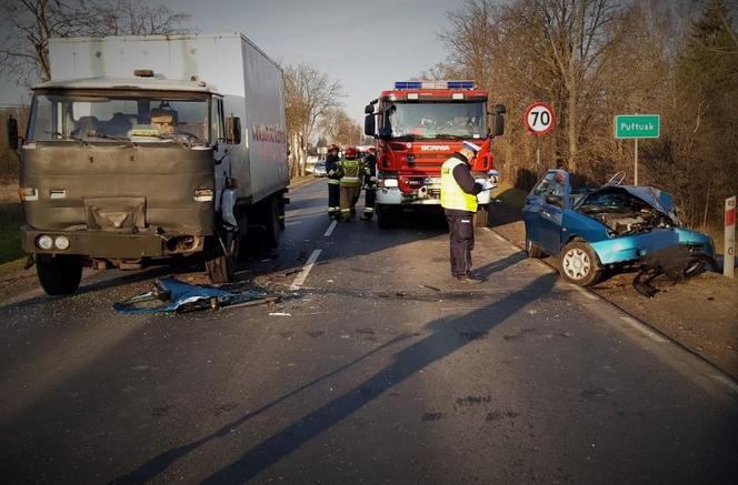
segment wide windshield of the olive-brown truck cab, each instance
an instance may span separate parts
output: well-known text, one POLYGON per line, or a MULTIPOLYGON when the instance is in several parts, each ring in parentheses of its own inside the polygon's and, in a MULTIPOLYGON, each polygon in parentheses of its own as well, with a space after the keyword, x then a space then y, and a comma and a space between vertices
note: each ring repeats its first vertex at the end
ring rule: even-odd
POLYGON ((208 99, 37 94, 30 141, 112 140, 207 144, 208 99))

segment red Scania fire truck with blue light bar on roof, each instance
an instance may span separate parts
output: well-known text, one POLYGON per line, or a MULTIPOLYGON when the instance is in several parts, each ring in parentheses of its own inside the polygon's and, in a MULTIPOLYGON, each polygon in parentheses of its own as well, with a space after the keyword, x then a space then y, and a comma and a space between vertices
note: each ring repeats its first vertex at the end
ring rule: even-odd
MULTIPOLYGON (((465 140, 481 146, 475 178, 497 182, 490 143, 505 131, 506 109, 488 112, 487 91, 473 81, 399 81, 365 113, 365 133, 378 139, 379 228, 397 225, 407 208, 440 208, 441 165, 465 140)), ((487 225, 490 192, 478 195, 477 226, 487 225)))

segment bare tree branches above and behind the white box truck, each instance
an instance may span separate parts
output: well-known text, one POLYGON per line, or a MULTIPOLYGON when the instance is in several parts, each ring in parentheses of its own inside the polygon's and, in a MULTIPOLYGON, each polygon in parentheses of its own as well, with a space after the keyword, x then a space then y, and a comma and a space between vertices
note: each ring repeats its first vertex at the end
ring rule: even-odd
POLYGON ((73 36, 142 36, 190 31, 184 13, 142 0, 1 0, 4 37, 0 71, 19 84, 51 78, 49 39, 73 36))

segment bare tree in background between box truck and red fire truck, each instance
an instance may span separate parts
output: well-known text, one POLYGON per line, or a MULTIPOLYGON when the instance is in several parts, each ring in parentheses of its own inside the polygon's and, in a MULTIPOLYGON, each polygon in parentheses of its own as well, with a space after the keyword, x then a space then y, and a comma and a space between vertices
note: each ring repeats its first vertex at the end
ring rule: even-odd
POLYGON ((305 175, 308 143, 320 119, 340 104, 341 84, 310 64, 285 69, 287 131, 290 140, 290 172, 305 175))

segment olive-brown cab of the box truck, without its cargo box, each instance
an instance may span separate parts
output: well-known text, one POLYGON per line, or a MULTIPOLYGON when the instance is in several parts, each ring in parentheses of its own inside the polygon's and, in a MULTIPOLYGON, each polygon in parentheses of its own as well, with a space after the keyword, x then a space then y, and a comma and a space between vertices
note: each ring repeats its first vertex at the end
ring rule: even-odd
POLYGON ((139 269, 201 252, 216 230, 227 150, 222 97, 203 82, 50 81, 33 89, 22 146, 22 247, 49 293, 81 267, 139 269))

